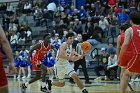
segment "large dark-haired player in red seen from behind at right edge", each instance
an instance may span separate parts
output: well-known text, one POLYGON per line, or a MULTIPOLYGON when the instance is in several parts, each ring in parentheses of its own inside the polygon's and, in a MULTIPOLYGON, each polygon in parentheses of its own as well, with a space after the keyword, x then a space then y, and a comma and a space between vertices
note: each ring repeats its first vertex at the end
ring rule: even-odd
POLYGON ((118 62, 121 60, 123 53, 132 45, 133 56, 129 60, 121 79, 120 93, 125 93, 128 85, 128 79, 135 73, 140 73, 140 12, 130 13, 130 23, 132 27, 125 31, 124 43, 120 50, 118 62))

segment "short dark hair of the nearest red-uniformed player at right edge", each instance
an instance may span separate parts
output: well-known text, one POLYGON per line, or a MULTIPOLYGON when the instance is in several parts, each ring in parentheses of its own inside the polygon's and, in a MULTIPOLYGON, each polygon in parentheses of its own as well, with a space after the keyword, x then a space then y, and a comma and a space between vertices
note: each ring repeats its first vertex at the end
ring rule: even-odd
POLYGON ((129 17, 134 24, 140 25, 140 11, 131 12, 129 17))

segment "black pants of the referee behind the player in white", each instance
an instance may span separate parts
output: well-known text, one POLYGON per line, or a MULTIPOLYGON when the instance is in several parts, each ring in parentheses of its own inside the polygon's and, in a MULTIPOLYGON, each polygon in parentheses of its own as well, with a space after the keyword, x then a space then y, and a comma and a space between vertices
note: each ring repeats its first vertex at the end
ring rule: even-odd
MULTIPOLYGON (((83 71, 84 76, 85 76, 85 81, 88 82, 89 81, 89 76, 88 76, 88 73, 87 73, 85 58, 74 62, 74 70, 77 71, 77 69, 80 65, 82 66, 82 71, 83 71)), ((72 78, 70 78, 70 80, 72 80, 72 78)))

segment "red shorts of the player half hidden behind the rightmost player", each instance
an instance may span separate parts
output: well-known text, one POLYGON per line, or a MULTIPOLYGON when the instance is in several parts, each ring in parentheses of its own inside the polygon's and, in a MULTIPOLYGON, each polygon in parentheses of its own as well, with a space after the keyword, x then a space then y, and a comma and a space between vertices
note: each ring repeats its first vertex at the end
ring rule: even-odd
POLYGON ((122 55, 121 60, 120 60, 119 66, 120 67, 123 67, 123 68, 126 68, 128 62, 132 59, 132 57, 133 57, 133 54, 132 53, 124 53, 122 55))

